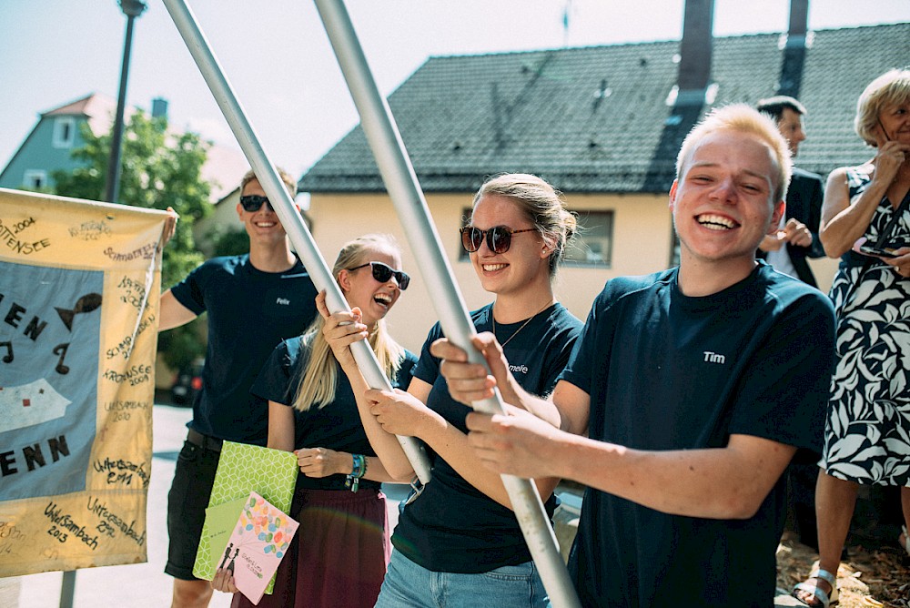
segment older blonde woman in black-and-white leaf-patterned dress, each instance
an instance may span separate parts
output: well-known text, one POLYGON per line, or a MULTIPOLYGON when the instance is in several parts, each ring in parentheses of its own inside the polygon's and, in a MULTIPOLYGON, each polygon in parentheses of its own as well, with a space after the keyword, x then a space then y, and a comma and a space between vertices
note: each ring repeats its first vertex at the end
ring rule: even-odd
POLYGON ((864 165, 835 169, 824 195, 822 244, 842 257, 831 287, 837 366, 815 488, 819 567, 794 590, 825 608, 837 600, 859 485, 901 488, 899 542, 910 554, 910 70, 892 70, 866 87, 855 127, 877 153, 864 165), (888 255, 863 253, 863 245, 879 244, 888 255))

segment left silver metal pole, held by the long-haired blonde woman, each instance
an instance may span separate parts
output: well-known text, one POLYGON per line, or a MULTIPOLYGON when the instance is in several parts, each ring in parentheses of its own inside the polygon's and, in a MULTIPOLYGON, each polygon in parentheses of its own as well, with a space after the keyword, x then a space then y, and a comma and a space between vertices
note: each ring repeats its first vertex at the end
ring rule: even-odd
MULTIPOLYGON (((266 191, 268 200, 275 209, 278 219, 281 220, 281 225, 288 233, 290 242, 297 249, 304 266, 307 267, 313 283, 317 289, 325 289, 329 310, 333 312, 350 310, 338 283, 335 282, 331 270, 326 265, 326 260, 319 253, 319 248, 309 233, 309 228, 294 207, 294 201, 290 198, 287 187, 259 144, 256 132, 249 124, 233 88, 227 81, 224 70, 208 45, 206 36, 199 28, 195 15, 184 0, 164 0, 164 4, 174 20, 174 25, 177 25, 177 30, 183 36, 184 42, 187 43, 187 48, 196 61, 199 71, 206 79, 208 88, 215 96, 221 112, 227 118, 227 124, 234 132, 234 137, 237 137, 240 149, 243 150, 250 166, 253 167, 259 184, 266 191)), ((359 341, 351 345, 351 352, 370 387, 392 389, 389 379, 379 368, 376 355, 373 354, 366 341, 359 341)), ((420 481, 422 483, 430 481, 430 461, 420 443, 413 437, 399 437, 399 442, 420 481)))

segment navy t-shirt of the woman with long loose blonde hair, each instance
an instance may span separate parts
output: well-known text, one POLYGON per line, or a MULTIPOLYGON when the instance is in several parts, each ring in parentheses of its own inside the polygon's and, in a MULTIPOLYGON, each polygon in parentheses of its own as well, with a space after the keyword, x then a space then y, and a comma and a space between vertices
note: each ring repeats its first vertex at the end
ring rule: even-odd
MULTIPOLYGON (((259 372, 250 389, 255 395, 267 401, 292 407, 297 396, 300 378, 307 365, 309 350, 303 345, 303 338, 286 339, 278 344, 259 372)), ((399 371, 391 379, 395 389, 407 389, 411 370, 417 363, 417 356, 405 350, 399 371)), ((350 454, 376 456, 369 445, 367 431, 363 430, 357 400, 350 380, 341 370, 338 362, 338 385, 335 398, 321 408, 312 407, 306 411, 294 410, 294 449, 328 448, 350 454)), ((298 475, 298 488, 315 490, 345 490, 346 476, 341 474, 328 477, 307 477, 298 475)), ((379 488, 379 481, 360 480, 362 488, 379 488)))

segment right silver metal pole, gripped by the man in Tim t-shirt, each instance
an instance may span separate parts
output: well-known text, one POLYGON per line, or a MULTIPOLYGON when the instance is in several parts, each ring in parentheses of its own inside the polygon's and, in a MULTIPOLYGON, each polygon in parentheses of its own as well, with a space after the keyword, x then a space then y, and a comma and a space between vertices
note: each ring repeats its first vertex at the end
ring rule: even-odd
MULTIPOLYGON (((440 246, 439 234, 430 219, 430 210, 423 198, 417 174, 410 164, 389 106, 379 95, 348 11, 341 0, 315 2, 360 114, 360 125, 376 157, 382 181, 398 212, 420 275, 433 294, 433 305, 440 316, 442 329, 449 339, 468 352, 472 362, 486 365, 480 352, 470 345, 470 339, 475 334, 474 326, 452 277, 449 260, 440 246)), ((490 413, 503 411, 498 391, 493 399, 478 401, 472 406, 475 410, 490 413)), ((541 572, 541 580, 550 594, 551 603, 554 606, 579 606, 537 486, 533 481, 511 475, 503 475, 502 483, 509 493, 521 532, 541 572)))

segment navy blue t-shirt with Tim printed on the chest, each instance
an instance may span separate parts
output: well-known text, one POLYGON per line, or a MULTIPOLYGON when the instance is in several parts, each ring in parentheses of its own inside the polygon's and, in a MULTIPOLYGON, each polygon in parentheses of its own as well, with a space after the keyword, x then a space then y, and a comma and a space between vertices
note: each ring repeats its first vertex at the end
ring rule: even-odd
MULTIPOLYGON (((668 451, 744 434, 818 451, 833 362, 831 302, 759 262, 703 298, 682 294, 677 269, 612 279, 561 380, 591 396, 591 439, 668 451)), ((589 489, 569 562, 581 603, 770 606, 784 491, 751 519, 712 520, 589 489)))

